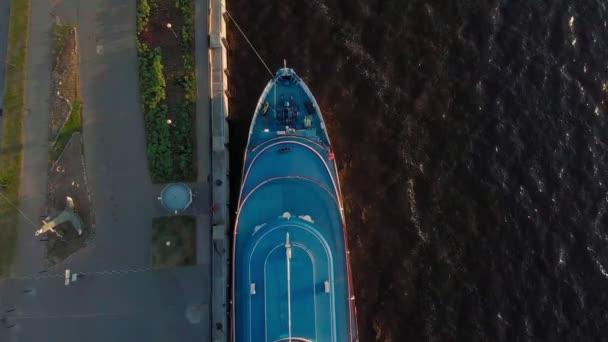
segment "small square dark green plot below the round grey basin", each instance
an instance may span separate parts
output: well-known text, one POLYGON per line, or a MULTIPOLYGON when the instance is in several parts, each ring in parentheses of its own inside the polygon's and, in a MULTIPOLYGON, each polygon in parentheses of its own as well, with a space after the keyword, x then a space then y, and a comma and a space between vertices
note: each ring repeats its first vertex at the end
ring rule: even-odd
POLYGON ((152 223, 152 265, 176 267, 196 262, 196 219, 167 216, 152 223))

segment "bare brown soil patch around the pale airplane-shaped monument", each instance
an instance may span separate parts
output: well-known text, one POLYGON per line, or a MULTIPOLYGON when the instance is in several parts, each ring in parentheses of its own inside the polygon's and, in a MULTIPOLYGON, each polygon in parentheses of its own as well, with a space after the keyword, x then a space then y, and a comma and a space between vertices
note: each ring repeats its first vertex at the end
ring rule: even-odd
POLYGON ((84 167, 82 138, 80 133, 75 133, 59 160, 49 171, 48 215, 54 217, 63 211, 66 206, 66 197, 71 197, 75 204, 74 212, 82 221, 83 234, 78 236, 69 223, 57 227, 57 230, 63 234, 63 238, 59 238, 53 233, 47 233, 48 259, 51 264, 65 260, 86 246, 94 234, 92 203, 84 167))

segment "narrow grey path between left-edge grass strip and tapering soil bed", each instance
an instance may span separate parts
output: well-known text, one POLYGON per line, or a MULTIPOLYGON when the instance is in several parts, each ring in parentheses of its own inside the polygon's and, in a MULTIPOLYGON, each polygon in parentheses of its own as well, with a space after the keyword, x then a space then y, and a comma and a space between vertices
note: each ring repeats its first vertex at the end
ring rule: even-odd
MULTIPOLYGON (((30 41, 25 85, 23 167, 19 208, 33 223, 46 214, 49 96, 51 92, 52 18, 48 1, 32 1, 30 41)), ((45 269, 45 246, 34 237, 30 220, 20 217, 15 272, 32 274, 45 269)))

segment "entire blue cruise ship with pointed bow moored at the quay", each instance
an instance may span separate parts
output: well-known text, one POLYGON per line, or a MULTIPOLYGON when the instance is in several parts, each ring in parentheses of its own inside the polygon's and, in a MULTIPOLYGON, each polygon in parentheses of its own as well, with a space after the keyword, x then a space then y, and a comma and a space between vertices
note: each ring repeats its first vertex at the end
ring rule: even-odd
POLYGON ((358 341, 334 153, 291 68, 255 109, 232 247, 233 341, 358 341))

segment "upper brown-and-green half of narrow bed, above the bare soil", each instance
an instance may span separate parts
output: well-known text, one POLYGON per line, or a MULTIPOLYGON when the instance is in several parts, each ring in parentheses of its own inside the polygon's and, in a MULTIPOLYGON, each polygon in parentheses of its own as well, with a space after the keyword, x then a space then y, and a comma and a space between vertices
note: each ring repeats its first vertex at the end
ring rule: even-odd
POLYGON ((53 66, 51 97, 51 121, 49 140, 53 144, 59 131, 68 120, 78 93, 78 47, 76 29, 73 26, 56 25, 54 30, 55 65, 53 66))

